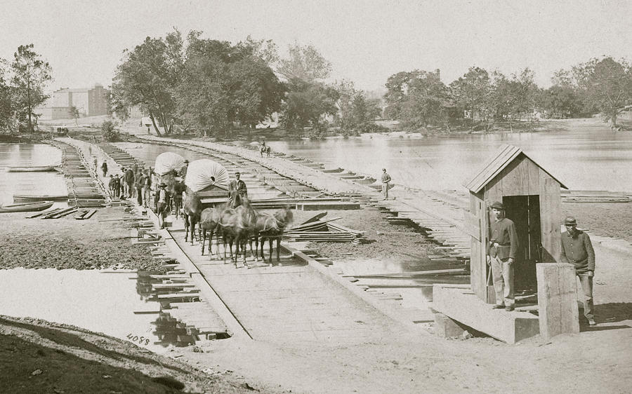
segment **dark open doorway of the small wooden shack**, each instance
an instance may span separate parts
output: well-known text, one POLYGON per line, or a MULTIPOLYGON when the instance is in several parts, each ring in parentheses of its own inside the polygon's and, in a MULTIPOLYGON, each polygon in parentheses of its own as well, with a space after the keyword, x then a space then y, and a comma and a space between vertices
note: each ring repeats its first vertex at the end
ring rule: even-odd
POLYGON ((515 224, 520 247, 514 267, 515 292, 537 291, 536 264, 541 261, 540 198, 503 196, 505 215, 515 224))

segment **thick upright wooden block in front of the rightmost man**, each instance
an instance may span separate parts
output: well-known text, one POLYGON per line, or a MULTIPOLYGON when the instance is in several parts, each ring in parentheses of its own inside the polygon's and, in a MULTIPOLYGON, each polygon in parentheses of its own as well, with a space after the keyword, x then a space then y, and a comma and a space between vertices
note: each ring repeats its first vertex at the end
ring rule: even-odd
POLYGON ((536 264, 540 335, 579 333, 575 269, 567 263, 536 264))

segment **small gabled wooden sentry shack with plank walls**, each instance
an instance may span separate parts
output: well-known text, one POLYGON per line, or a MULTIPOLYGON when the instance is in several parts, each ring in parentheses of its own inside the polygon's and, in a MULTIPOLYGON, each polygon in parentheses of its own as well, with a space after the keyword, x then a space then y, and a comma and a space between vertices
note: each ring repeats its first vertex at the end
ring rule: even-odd
POLYGON ((474 177, 463 183, 470 191, 466 229, 471 236, 470 283, 483 301, 493 303, 491 272, 486 254, 489 207, 494 201, 505 205, 513 220, 520 247, 516 256, 515 291, 537 290, 536 264, 554 263, 560 257, 560 188, 568 189, 541 168, 522 149, 503 145, 474 177))

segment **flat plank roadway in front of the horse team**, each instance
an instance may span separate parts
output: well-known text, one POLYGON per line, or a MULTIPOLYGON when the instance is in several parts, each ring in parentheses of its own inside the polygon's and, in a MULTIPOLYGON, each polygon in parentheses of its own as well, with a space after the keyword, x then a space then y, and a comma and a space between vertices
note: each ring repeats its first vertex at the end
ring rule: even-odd
POLYGON ((171 233, 255 340, 357 343, 395 334, 391 330, 398 325, 393 320, 289 254, 282 255, 279 265, 249 258, 251 268, 244 268, 242 259, 235 268, 208 254, 201 256, 199 243, 185 243, 183 231, 171 233))

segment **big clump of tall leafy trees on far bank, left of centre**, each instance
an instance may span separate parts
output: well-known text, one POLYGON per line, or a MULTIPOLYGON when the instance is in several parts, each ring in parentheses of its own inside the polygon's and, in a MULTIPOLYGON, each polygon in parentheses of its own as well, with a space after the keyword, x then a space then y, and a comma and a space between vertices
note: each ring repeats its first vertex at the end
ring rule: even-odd
POLYGON ((327 84, 331 64, 313 46, 294 44, 281 58, 272 41, 248 37, 232 45, 178 30, 147 37, 124 51, 111 87, 119 118, 140 105, 161 133, 225 135, 235 125, 255 128, 279 114, 287 129, 371 127, 378 101, 353 83, 327 84))

